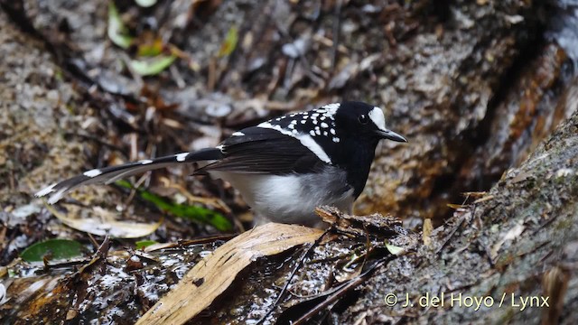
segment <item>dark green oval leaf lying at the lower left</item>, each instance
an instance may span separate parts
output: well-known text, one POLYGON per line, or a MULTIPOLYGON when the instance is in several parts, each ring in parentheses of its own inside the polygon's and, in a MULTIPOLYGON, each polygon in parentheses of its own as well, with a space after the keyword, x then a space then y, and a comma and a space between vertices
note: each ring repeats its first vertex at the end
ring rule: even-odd
POLYGON ((81 256, 83 249, 83 246, 75 240, 49 239, 29 246, 20 256, 26 262, 42 262, 44 256, 50 257, 51 260, 81 256))

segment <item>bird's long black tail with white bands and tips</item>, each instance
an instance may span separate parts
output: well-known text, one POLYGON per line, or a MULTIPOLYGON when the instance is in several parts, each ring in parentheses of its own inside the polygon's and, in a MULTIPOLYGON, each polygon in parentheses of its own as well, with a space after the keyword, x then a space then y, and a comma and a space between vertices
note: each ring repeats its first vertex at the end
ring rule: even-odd
POLYGON ((51 194, 48 203, 54 204, 61 200, 66 193, 74 190, 80 185, 89 184, 109 184, 113 181, 146 171, 152 171, 179 163, 194 163, 201 161, 218 160, 222 158, 219 148, 207 148, 194 153, 177 153, 170 156, 146 159, 135 163, 125 163, 118 166, 93 169, 82 174, 72 177, 66 181, 52 184, 42 190, 39 190, 34 196, 40 198, 51 194))

